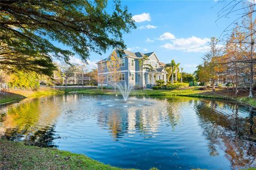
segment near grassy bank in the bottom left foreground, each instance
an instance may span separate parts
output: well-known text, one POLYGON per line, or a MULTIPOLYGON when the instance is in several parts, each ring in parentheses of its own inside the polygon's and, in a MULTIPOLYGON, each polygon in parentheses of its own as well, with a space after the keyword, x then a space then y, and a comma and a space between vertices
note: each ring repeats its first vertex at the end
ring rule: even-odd
POLYGON ((0 169, 121 169, 84 155, 54 148, 25 146, 22 142, 0 140, 0 150, 0 169))

